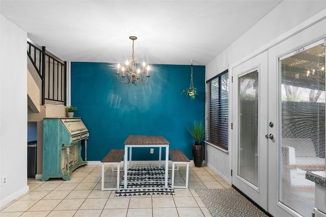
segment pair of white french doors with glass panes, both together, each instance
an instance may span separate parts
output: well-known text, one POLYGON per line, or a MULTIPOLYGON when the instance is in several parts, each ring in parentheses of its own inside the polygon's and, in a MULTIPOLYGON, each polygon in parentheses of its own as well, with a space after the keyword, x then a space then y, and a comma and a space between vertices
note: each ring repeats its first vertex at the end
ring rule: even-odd
POLYGON ((311 216, 325 170, 324 26, 231 68, 232 184, 274 216, 311 216))

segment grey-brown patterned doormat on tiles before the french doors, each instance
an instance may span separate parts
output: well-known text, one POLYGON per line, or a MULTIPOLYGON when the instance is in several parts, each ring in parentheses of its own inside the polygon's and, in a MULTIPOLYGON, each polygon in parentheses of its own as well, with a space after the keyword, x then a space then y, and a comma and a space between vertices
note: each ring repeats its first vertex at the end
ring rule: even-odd
POLYGON ((196 189, 196 192, 214 217, 267 216, 235 189, 196 189))

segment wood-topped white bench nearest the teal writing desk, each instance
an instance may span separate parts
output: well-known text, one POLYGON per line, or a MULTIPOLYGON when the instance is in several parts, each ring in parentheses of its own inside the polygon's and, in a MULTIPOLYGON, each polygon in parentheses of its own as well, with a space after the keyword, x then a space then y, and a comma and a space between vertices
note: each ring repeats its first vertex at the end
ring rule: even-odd
POLYGON ((102 163, 102 183, 101 190, 119 190, 120 185, 120 163, 124 156, 124 149, 112 149, 110 152, 106 154, 106 156, 101 160, 102 163), (117 165, 117 188, 104 188, 104 165, 109 164, 112 165, 112 172, 114 172, 114 165, 117 165))

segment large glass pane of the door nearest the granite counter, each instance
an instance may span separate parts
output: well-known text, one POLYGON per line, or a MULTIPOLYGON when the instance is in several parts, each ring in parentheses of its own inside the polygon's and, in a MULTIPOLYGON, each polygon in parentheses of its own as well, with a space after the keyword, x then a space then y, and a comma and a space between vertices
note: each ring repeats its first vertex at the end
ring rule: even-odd
POLYGON ((325 169, 325 48, 280 60, 279 201, 303 216, 315 206, 307 171, 325 169))

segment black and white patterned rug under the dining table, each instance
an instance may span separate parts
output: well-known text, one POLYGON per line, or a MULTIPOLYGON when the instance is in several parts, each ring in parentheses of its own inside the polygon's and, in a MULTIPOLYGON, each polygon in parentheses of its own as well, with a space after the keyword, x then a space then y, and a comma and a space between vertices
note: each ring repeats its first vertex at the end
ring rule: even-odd
POLYGON ((168 189, 164 188, 165 168, 161 167, 132 167, 128 168, 127 190, 124 190, 124 176, 116 197, 141 195, 175 195, 168 178, 168 189))

